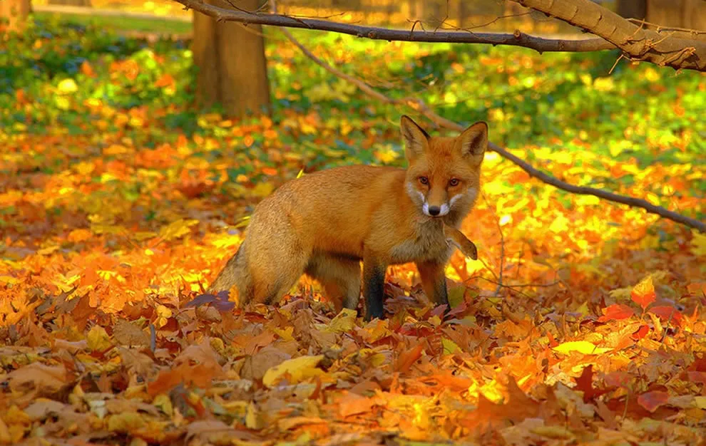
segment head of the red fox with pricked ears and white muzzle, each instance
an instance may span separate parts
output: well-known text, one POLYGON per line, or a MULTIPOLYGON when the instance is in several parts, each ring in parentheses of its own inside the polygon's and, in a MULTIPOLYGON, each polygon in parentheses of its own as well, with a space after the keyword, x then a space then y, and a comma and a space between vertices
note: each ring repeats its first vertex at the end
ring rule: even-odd
POLYGON ((412 202, 428 217, 469 212, 480 187, 488 125, 475 123, 456 138, 432 138, 406 115, 400 127, 409 165, 406 191, 412 202))

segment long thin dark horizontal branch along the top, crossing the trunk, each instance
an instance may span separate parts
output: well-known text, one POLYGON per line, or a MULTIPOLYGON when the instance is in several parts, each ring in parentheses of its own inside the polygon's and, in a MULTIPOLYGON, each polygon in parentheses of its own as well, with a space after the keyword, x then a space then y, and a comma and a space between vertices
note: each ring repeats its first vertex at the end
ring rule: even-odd
POLYGON ((490 45, 522 46, 540 53, 550 51, 603 51, 615 49, 615 45, 603 38, 553 39, 531 36, 521 31, 514 33, 474 33, 470 31, 411 31, 390 29, 377 26, 359 26, 342 24, 322 19, 307 19, 285 16, 282 14, 264 14, 259 12, 237 11, 207 4, 202 0, 175 0, 187 9, 194 9, 211 16, 218 21, 237 21, 244 24, 286 26, 287 28, 317 29, 334 31, 362 38, 386 41, 411 42, 451 42, 451 43, 487 43, 490 45))

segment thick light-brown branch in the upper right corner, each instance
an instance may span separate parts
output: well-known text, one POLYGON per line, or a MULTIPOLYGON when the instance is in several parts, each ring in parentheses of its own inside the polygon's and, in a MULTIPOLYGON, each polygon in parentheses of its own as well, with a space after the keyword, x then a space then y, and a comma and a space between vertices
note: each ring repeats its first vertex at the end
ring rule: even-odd
POLYGON ((683 38, 684 31, 658 33, 635 25, 590 0, 513 0, 605 38, 633 61, 706 71, 706 41, 683 38))

